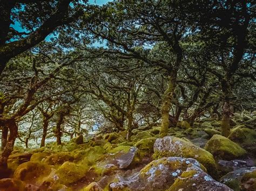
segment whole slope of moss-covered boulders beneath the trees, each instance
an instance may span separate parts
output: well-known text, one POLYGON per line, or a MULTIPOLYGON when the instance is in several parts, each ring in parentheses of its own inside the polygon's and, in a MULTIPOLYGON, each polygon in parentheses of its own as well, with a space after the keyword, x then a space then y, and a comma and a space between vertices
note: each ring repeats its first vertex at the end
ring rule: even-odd
POLYGON ((179 122, 169 136, 142 126, 36 150, 15 148, 0 190, 256 190, 256 118, 179 122), (8 176, 8 178, 7 178, 8 176))

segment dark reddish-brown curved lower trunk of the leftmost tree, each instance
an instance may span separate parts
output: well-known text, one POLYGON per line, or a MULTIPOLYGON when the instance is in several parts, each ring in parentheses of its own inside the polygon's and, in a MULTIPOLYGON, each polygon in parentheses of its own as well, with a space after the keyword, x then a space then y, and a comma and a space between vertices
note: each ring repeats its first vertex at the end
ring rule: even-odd
POLYGON ((10 121, 6 122, 4 125, 8 127, 10 134, 0 157, 0 168, 7 168, 7 160, 14 150, 14 143, 18 135, 18 126, 14 119, 10 119, 10 121))

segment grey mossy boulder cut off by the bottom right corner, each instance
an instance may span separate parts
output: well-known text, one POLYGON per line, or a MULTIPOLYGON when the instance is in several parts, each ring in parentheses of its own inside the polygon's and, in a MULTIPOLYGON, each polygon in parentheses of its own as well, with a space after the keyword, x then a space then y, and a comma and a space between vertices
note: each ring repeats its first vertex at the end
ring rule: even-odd
POLYGON ((241 168, 227 173, 220 182, 235 191, 256 190, 256 167, 241 168))

